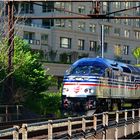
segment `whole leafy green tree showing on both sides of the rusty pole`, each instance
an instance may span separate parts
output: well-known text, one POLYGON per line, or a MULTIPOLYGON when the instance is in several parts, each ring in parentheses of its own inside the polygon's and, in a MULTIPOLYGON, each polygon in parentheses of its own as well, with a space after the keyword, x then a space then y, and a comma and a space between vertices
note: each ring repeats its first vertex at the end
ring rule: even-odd
MULTIPOLYGON (((2 44, 5 44, 5 49, 8 47, 6 40, 2 44)), ((20 102, 27 94, 35 96, 37 93, 47 90, 51 85, 52 76, 47 76, 45 69, 39 62, 39 53, 33 53, 26 41, 15 37, 14 47, 13 70, 10 73, 14 80, 12 102, 20 102)), ((5 58, 0 59, 0 81, 2 86, 9 75, 7 73, 7 57, 4 51, 0 51, 0 57, 5 58)))

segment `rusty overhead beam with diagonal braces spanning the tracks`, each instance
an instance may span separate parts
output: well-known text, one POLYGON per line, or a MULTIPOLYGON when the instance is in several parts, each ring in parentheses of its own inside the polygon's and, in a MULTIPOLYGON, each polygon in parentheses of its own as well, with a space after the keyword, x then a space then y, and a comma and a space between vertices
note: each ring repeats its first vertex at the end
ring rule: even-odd
MULTIPOLYGON (((24 1, 24 2, 26 2, 26 1, 24 1)), ((128 10, 133 10, 133 9, 140 8, 140 5, 130 7, 130 8, 121 9, 121 10, 117 10, 117 11, 113 11, 113 12, 109 12, 109 13, 106 13, 106 14, 100 14, 100 11, 99 11, 100 10, 99 9, 100 3, 99 3, 99 1, 98 0, 93 0, 92 3, 93 2, 95 2, 95 8, 94 8, 95 14, 85 15, 85 14, 81 14, 81 13, 66 10, 65 8, 58 8, 58 7, 54 7, 54 6, 50 8, 48 5, 45 5, 45 7, 49 8, 49 9, 52 9, 52 10, 55 9, 55 10, 59 10, 59 11, 64 11, 66 13, 75 14, 75 15, 78 15, 78 16, 73 16, 73 15, 72 16, 66 16, 66 15, 65 16, 48 16, 48 17, 46 17, 46 16, 44 16, 44 17, 43 16, 26 16, 26 17, 25 16, 24 17, 20 16, 18 18, 23 18, 23 19, 25 19, 25 18, 31 18, 31 19, 140 19, 140 16, 109 16, 111 14, 125 12, 125 11, 128 11, 128 10)), ((30 2, 26 2, 26 3, 30 3, 30 2)), ((38 6, 42 6, 42 7, 44 6, 43 4, 39 4, 39 3, 35 3, 35 2, 33 2, 33 4, 38 5, 38 6)))

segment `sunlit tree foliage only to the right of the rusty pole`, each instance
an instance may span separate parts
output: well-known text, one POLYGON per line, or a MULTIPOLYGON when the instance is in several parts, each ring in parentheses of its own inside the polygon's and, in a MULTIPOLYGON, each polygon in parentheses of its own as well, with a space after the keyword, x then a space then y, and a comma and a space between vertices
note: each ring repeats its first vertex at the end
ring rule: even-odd
POLYGON ((39 54, 31 52, 24 40, 15 38, 14 64, 16 67, 19 65, 14 72, 16 87, 22 87, 34 94, 48 89, 51 76, 46 76, 39 57, 39 54))

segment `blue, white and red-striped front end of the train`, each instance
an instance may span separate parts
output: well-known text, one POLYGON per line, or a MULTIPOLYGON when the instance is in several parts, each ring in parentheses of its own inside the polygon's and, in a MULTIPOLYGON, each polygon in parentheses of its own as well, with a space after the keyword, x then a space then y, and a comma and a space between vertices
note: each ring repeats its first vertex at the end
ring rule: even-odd
POLYGON ((80 59, 66 71, 62 91, 65 112, 80 113, 96 108, 96 86, 101 69, 90 59, 80 59))

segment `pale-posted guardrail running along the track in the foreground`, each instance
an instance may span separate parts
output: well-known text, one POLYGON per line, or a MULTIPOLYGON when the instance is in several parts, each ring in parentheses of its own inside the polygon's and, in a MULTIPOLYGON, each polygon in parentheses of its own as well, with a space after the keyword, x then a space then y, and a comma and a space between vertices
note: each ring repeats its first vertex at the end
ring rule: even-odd
POLYGON ((46 139, 94 138, 118 139, 140 132, 140 109, 103 112, 92 116, 80 116, 60 120, 23 124, 0 130, 0 138, 12 136, 13 139, 27 140, 29 133, 44 130, 46 139), (120 130, 119 130, 120 129, 120 130))

